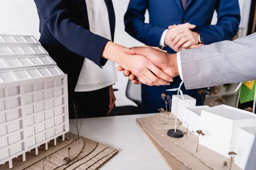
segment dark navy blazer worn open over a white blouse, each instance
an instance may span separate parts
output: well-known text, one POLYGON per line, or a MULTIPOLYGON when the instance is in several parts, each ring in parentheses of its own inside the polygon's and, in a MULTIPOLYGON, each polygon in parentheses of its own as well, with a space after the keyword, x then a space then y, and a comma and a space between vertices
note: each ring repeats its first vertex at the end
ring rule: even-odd
MULTIPOLYGON (((108 8, 111 39, 114 39, 115 13, 108 8)), ((35 0, 40 19, 40 42, 52 59, 68 75, 69 95, 74 91, 84 58, 105 65, 102 49, 108 39, 90 32, 85 0, 35 0), (71 93, 70 93, 71 92, 71 93)), ((71 96, 69 96, 70 98, 71 96)))

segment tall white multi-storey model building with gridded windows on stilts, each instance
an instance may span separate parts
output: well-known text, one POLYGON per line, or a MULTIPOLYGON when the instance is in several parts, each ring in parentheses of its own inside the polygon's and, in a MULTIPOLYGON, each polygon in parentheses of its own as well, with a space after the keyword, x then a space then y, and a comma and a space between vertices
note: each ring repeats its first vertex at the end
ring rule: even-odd
POLYGON ((67 75, 33 36, 0 35, 0 164, 69 131, 67 75))

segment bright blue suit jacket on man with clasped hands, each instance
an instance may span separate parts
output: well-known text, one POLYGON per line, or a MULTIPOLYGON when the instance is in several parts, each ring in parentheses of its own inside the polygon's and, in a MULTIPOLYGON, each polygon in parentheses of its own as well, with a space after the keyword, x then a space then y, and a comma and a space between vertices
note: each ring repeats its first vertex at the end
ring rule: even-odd
MULTIPOLYGON (((158 47, 163 31, 170 25, 191 23, 201 34, 204 44, 230 40, 240 23, 238 0, 188 0, 185 10, 181 0, 131 0, 125 14, 125 31, 146 45, 158 47), (144 23, 148 9, 149 23, 144 23), (218 23, 210 25, 214 10, 218 23)), ((169 53, 175 53, 166 47, 169 53)))

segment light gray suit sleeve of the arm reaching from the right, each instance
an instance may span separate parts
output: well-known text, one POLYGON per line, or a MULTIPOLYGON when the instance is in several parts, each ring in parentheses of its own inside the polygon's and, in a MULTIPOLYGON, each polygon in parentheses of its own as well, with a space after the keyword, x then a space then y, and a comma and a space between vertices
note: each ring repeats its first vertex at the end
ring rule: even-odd
POLYGON ((180 52, 186 89, 256 79, 256 33, 180 52))

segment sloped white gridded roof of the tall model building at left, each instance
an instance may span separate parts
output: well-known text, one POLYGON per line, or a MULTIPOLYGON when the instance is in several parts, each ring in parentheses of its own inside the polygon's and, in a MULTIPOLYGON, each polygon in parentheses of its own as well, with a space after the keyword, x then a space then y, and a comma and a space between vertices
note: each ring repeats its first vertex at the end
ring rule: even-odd
POLYGON ((35 37, 0 34, 0 83, 60 74, 35 37))

